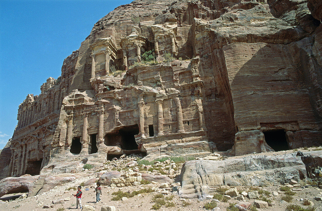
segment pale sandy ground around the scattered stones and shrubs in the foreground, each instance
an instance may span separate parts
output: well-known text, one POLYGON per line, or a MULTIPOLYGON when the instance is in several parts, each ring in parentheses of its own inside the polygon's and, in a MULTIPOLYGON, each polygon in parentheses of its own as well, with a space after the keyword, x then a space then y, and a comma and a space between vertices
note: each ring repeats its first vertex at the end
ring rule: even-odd
MULTIPOLYGON (((301 150, 301 151, 307 151, 307 150, 301 150)), ((286 153, 293 153, 293 150, 288 150, 288 151, 279 151, 279 152, 267 152, 267 153, 261 153, 265 155, 273 155, 273 154, 286 154, 286 153)), ((239 157, 244 157, 244 156, 239 156, 239 157)), ((91 177, 83 177, 83 178, 78 178, 74 180, 73 182, 66 183, 62 186, 55 187, 54 189, 43 193, 41 195, 35 196, 35 197, 30 197, 26 198, 23 200, 16 199, 19 197, 21 194, 10 194, 10 195, 5 195, 1 197, 1 200, 10 200, 9 202, 2 202, 0 203, 0 210, 16 210, 16 211, 32 211, 32 210, 37 210, 37 211, 56 211, 57 209, 63 207, 65 210, 71 210, 71 209, 76 209, 76 199, 75 197, 72 196, 72 194, 76 194, 76 191, 70 190, 67 191, 66 189, 68 187, 74 187, 78 186, 81 182, 85 182, 90 178, 94 178, 94 176, 91 177), (50 205, 52 204, 53 200, 57 199, 65 199, 63 204, 56 204, 53 205, 52 208, 43 208, 43 205, 50 205), (13 201, 11 201, 13 200, 13 201)), ((238 187, 239 190, 247 190, 247 187, 238 187)), ((283 192, 279 190, 279 186, 273 186, 273 187, 264 187, 263 189, 270 191, 271 193, 273 191, 279 192, 279 196, 274 197, 272 204, 272 207, 266 208, 266 209, 259 209, 260 210, 273 210, 273 211, 284 211, 286 210, 286 206, 289 204, 298 204, 301 205, 303 203, 303 199, 309 199, 313 201, 314 206, 316 206, 317 211, 322 211, 322 201, 317 201, 314 199, 314 197, 322 197, 322 189, 316 187, 316 186, 310 186, 310 185, 305 185, 304 183, 300 185, 300 187, 294 187, 293 191, 296 192, 296 195, 293 196, 293 201, 291 203, 281 203, 280 197, 283 196, 283 192)), ((93 193, 94 188, 93 187, 83 187, 82 192, 82 204, 83 205, 90 205, 95 208, 95 210, 101 210, 101 207, 104 205, 107 206, 115 206, 117 211, 128 211, 129 209, 132 209, 133 211, 147 211, 151 210, 152 205, 154 204, 151 202, 153 197, 161 192, 161 188, 159 188, 159 184, 148 184, 148 185, 140 185, 137 187, 122 187, 122 188, 117 188, 117 187, 102 187, 102 192, 103 194, 101 195, 102 201, 99 203, 95 203, 96 201, 96 196, 95 193, 93 193), (128 200, 125 201, 112 201, 111 198, 113 197, 111 194, 113 192, 116 192, 118 190, 122 190, 124 192, 126 191, 133 191, 133 190, 139 190, 140 188, 146 188, 146 187, 152 187, 156 191, 153 193, 146 193, 146 194, 140 194, 131 198, 128 198, 128 200), (85 190, 85 188, 89 188, 89 190, 85 190)), ((179 199, 178 193, 176 191, 174 192, 169 192, 168 195, 166 196, 171 196, 173 195, 174 198, 171 200, 175 206, 173 207, 165 207, 162 206, 159 210, 160 211, 172 211, 172 210, 206 210, 204 207, 204 204, 207 202, 211 202, 212 199, 204 199, 204 200, 199 200, 199 199, 186 199, 186 201, 182 201, 182 199, 179 199), (190 205, 184 206, 187 202, 190 203, 190 205)), ((253 202, 255 199, 248 199, 245 198, 245 201, 248 202, 253 202)), ((1 202, 1 201, 0 201, 1 202)), ((238 200, 231 199, 228 202, 220 202, 218 203, 218 207, 221 208, 222 211, 226 210, 227 206, 229 206, 229 203, 237 203, 239 202, 238 200)), ((189 204, 188 203, 188 204, 189 204)), ((303 206, 303 205, 302 205, 303 206)), ((305 207, 305 206, 303 206, 305 207)))

